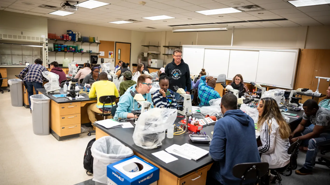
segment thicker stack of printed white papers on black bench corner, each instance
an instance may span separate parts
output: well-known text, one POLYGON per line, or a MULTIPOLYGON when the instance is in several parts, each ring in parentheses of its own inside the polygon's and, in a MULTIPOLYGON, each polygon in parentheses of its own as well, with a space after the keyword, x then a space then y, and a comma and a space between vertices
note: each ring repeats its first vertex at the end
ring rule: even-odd
POLYGON ((188 143, 185 143, 184 145, 178 146, 173 148, 174 151, 185 155, 187 157, 192 158, 193 160, 197 161, 198 159, 206 156, 207 154, 209 154, 209 151, 204 150, 200 147, 194 146, 194 145, 190 145, 188 143))

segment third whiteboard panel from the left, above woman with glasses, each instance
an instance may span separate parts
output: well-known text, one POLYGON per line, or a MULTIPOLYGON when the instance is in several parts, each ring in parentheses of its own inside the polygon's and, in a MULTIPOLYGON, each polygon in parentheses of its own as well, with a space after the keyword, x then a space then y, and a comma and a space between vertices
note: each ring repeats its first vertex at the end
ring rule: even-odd
POLYGON ((234 78, 241 74, 244 81, 255 82, 257 75, 259 51, 230 50, 228 76, 234 78))

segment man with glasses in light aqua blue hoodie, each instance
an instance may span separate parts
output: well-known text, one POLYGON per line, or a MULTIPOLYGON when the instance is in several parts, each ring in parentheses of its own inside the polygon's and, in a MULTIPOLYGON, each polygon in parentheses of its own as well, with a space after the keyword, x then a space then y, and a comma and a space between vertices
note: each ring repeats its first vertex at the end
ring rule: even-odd
MULTIPOLYGON (((118 118, 134 118, 133 113, 131 111, 133 110, 133 102, 134 102, 134 110, 140 110, 138 108, 138 102, 134 101, 133 96, 131 95, 130 91, 137 91, 138 93, 142 94, 143 97, 149 101, 152 105, 152 98, 151 94, 149 93, 152 86, 152 78, 149 75, 141 74, 138 78, 138 81, 135 85, 128 88, 126 92, 120 96, 119 102, 117 103, 118 107, 116 110, 116 114, 114 116, 114 119, 118 118)), ((153 106, 151 106, 152 108, 153 106)))

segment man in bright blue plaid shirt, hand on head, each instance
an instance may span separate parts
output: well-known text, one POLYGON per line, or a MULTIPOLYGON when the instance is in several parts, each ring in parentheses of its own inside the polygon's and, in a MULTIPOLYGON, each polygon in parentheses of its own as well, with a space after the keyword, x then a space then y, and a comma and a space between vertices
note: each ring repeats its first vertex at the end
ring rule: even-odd
POLYGON ((198 97, 200 105, 208 104, 211 99, 221 98, 220 94, 214 90, 216 81, 212 76, 202 76, 198 85, 198 97), (206 80, 208 81, 206 84, 206 80))

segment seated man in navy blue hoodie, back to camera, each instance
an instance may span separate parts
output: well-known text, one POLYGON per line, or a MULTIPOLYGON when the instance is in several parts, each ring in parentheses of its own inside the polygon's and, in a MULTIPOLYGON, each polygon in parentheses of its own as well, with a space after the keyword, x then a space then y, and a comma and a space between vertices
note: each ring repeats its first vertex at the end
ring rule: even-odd
MULTIPOLYGON (((241 179, 234 177, 233 167, 260 162, 254 122, 243 111, 237 110, 237 97, 232 93, 223 95, 220 108, 223 118, 215 123, 210 145, 210 156, 216 162, 208 172, 207 181, 215 179, 224 185, 239 184, 241 179)), ((248 183, 253 182, 243 182, 248 183)))

